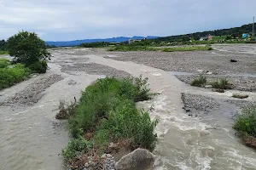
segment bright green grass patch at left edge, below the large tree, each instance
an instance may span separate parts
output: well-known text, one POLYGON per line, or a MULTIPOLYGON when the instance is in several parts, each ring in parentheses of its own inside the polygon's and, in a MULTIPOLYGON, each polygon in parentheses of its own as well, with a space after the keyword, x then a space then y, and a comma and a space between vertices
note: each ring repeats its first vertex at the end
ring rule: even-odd
POLYGON ((10 65, 8 59, 0 59, 0 90, 22 82, 31 73, 25 65, 10 65))

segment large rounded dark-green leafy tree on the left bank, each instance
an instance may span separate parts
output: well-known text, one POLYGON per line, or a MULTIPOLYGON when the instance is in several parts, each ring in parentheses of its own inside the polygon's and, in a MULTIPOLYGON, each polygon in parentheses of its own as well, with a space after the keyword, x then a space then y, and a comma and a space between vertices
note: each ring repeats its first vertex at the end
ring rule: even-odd
POLYGON ((15 62, 32 65, 43 59, 50 59, 45 42, 34 32, 20 31, 7 41, 9 54, 15 62))

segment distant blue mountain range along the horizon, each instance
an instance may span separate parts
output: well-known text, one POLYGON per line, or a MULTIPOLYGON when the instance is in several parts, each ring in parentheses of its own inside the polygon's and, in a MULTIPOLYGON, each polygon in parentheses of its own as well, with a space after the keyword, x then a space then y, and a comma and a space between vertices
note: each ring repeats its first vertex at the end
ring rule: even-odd
MULTIPOLYGON (((56 47, 71 47, 71 46, 79 46, 81 43, 86 43, 86 42, 126 42, 129 41, 129 39, 133 40, 140 40, 143 39, 144 37, 112 37, 112 38, 105 38, 105 39, 84 39, 84 40, 74 40, 74 41, 67 41, 67 42, 46 42, 47 45, 53 46, 55 45, 56 47)), ((154 39, 158 37, 154 36, 148 36, 147 39, 154 39)))

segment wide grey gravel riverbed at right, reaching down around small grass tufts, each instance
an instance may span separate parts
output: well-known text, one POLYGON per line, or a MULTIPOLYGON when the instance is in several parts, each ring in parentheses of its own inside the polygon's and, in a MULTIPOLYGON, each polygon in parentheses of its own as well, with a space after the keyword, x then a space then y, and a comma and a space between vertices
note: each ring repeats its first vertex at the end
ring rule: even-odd
POLYGON ((209 71, 210 81, 226 77, 234 89, 256 91, 256 55, 221 51, 189 52, 105 52, 105 58, 152 66, 164 71, 183 71, 177 78, 190 83, 199 71, 209 71), (119 56, 119 57, 109 57, 119 56), (231 63, 230 59, 236 59, 231 63), (192 74, 192 75, 191 75, 192 74), (195 74, 195 75, 193 75, 195 74))

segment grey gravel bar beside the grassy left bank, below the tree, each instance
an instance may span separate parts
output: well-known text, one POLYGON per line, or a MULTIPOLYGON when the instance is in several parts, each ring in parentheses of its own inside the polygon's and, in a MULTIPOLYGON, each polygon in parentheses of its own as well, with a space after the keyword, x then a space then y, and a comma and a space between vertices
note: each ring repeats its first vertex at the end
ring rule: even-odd
POLYGON ((15 104, 15 105, 34 105, 41 99, 44 94, 44 90, 49 88, 55 82, 59 82, 63 79, 61 75, 49 75, 43 77, 36 82, 33 82, 24 90, 20 91, 18 94, 6 99, 3 104, 15 104))

